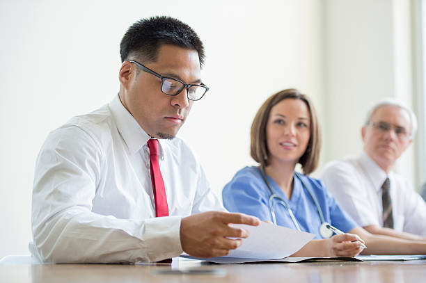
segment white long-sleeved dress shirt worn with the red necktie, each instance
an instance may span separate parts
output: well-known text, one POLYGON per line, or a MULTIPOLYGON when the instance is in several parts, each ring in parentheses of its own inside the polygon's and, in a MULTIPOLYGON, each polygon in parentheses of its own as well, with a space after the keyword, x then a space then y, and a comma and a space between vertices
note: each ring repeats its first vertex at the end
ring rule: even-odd
POLYGON ((194 153, 173 138, 159 140, 170 216, 155 218, 149 139, 118 95, 49 134, 33 184, 30 250, 36 258, 107 263, 176 257, 182 217, 225 211, 194 153))

